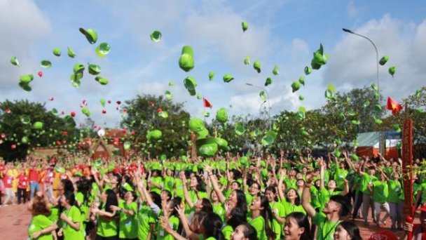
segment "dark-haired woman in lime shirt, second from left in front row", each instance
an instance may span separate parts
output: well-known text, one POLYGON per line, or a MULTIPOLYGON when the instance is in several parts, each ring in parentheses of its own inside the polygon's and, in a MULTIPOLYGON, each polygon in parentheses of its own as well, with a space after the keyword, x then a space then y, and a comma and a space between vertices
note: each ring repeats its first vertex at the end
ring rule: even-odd
POLYGON ((60 198, 60 204, 64 211, 60 214, 62 226, 58 236, 64 236, 64 240, 84 240, 84 229, 81 219, 81 211, 76 206, 76 198, 73 192, 64 192, 60 198))

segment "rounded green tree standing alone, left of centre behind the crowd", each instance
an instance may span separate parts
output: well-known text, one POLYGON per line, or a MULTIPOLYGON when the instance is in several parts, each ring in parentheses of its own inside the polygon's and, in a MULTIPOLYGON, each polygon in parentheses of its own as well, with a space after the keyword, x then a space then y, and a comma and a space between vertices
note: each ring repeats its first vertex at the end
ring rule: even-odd
POLYGON ((145 153, 152 156, 185 154, 191 133, 188 131, 189 113, 183 106, 183 103, 172 102, 162 95, 137 95, 123 104, 127 114, 121 126, 135 132, 130 140, 134 147, 140 147, 145 153), (166 113, 168 116, 163 117, 166 113), (160 140, 146 138, 153 130, 163 133, 160 140))

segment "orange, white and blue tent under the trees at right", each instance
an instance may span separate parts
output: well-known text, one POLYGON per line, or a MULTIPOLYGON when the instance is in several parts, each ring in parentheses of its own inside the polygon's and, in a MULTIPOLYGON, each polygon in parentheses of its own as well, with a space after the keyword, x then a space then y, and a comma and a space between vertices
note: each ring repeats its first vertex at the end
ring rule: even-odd
MULTIPOLYGON (((396 132, 395 132, 396 133, 396 132)), ((400 134, 394 134, 394 131, 384 132, 384 136, 392 135, 393 138, 399 139, 386 139, 385 140, 385 155, 386 159, 397 159, 398 158, 398 149, 397 144, 401 141, 400 134)), ((380 142, 380 132, 369 132, 369 133, 359 133, 357 135, 357 141, 359 142, 358 147, 355 149, 358 156, 373 156, 378 157, 379 142, 380 142)))

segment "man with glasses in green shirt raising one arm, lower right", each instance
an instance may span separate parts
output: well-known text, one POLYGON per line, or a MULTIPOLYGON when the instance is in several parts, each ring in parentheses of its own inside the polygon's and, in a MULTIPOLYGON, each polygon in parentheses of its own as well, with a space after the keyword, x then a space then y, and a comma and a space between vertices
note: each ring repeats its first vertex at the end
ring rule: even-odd
POLYGON ((312 186, 312 175, 306 176, 305 188, 302 195, 302 206, 310 218, 312 223, 317 225, 317 240, 334 239, 334 229, 352 210, 352 204, 345 196, 334 195, 330 197, 330 201, 325 204, 321 213, 317 213, 310 205, 310 187, 312 186))

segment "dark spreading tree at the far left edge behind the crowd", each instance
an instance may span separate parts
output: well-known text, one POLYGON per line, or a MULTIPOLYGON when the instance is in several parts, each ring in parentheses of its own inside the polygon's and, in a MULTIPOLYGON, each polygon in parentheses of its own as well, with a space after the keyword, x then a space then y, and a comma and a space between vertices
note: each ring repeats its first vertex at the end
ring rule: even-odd
POLYGON ((6 100, 0 109, 0 156, 6 160, 24 159, 33 147, 75 145, 78 131, 71 116, 62 119, 54 109, 28 100, 6 100))

